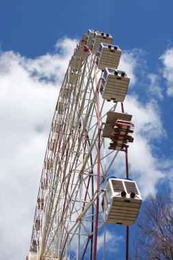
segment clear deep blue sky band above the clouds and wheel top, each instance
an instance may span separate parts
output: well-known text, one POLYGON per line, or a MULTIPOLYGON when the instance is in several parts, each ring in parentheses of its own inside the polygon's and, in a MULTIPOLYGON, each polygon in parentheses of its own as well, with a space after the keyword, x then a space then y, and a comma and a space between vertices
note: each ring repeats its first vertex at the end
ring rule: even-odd
POLYGON ((172 1, 1 1, 1 47, 36 57, 64 35, 111 31, 122 49, 144 48, 155 64, 172 44, 172 1))

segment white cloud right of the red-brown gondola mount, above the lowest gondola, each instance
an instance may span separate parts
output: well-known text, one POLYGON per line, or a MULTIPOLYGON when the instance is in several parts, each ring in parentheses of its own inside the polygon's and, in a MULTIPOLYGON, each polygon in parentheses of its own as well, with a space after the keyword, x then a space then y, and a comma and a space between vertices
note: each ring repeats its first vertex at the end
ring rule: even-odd
POLYGON ((157 103, 152 101, 143 105, 137 96, 127 96, 126 107, 133 115, 134 142, 129 146, 130 176, 137 181, 142 197, 157 192, 156 185, 165 177, 163 166, 155 155, 154 140, 165 138, 157 103))

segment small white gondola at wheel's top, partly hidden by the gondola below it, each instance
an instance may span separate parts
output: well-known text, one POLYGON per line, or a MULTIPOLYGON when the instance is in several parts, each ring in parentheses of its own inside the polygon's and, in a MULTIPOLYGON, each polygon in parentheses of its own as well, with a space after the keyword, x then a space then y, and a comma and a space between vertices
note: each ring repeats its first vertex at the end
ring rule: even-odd
POLYGON ((92 52, 93 53, 98 52, 100 45, 101 45, 101 42, 111 44, 112 40, 113 40, 113 38, 110 34, 105 34, 101 31, 95 31, 94 37, 93 37, 93 40, 92 40, 92 52))

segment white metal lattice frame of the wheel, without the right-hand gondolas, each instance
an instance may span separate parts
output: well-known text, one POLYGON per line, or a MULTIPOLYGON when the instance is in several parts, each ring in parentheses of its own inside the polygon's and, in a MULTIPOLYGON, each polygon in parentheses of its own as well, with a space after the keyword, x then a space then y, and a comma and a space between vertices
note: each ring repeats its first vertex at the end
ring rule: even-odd
POLYGON ((117 103, 99 97, 103 72, 90 49, 87 60, 84 54, 72 56, 53 116, 31 237, 38 259, 95 260, 97 231, 105 226, 101 185, 118 151, 108 150, 101 133, 117 103))

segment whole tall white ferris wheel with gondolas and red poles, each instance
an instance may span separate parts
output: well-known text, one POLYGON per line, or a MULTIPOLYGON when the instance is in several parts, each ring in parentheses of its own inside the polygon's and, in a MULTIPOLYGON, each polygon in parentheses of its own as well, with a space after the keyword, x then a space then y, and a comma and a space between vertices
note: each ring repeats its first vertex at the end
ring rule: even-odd
POLYGON ((121 50, 110 34, 90 29, 68 64, 44 158, 29 260, 96 260, 98 231, 135 222, 142 198, 129 179, 132 116, 123 101, 129 77, 118 70, 121 50), (117 111, 118 105, 121 108, 117 111), (110 177, 124 153, 126 174, 110 177))

